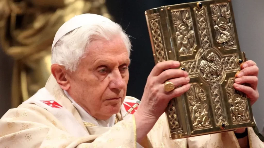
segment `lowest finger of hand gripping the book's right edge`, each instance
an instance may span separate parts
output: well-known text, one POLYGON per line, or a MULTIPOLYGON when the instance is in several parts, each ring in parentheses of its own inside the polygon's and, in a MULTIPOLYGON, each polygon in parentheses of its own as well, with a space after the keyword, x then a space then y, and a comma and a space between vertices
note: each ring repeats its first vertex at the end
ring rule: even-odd
POLYGON ((259 97, 258 91, 253 90, 253 88, 251 88, 249 86, 244 86, 244 85, 237 84, 237 83, 234 83, 233 86, 236 90, 245 93, 248 96, 248 98, 250 98, 251 102, 256 101, 259 97))

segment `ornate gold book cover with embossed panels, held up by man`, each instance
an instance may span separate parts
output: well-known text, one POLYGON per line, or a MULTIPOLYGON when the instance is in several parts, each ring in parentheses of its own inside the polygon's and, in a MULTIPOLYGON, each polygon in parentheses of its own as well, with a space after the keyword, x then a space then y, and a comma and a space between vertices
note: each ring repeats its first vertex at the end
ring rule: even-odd
POLYGON ((175 60, 190 77, 190 90, 170 101, 171 139, 254 125, 249 99, 233 88, 246 61, 230 0, 208 0, 145 12, 155 63, 175 60))

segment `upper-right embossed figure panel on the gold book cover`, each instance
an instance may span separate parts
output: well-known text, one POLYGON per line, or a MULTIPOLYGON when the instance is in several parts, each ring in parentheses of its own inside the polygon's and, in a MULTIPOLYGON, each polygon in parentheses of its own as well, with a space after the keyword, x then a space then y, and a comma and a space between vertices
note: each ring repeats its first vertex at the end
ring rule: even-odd
POLYGON ((235 48, 230 9, 227 3, 211 6, 216 42, 224 49, 235 48))

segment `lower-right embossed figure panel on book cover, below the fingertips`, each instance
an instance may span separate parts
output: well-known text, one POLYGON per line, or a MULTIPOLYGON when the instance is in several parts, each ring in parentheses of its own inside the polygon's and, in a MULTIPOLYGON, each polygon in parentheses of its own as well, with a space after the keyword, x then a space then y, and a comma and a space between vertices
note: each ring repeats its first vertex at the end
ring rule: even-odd
POLYGON ((230 113, 233 124, 241 122, 250 122, 249 112, 247 109, 247 98, 243 97, 240 92, 233 88, 235 78, 230 78, 225 87, 228 95, 228 103, 230 104, 230 113))

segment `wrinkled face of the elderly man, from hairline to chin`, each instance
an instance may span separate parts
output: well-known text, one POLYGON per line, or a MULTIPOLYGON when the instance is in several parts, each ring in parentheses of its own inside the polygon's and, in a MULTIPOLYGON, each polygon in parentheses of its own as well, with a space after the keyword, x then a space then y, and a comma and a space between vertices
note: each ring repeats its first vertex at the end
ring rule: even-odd
POLYGON ((126 96, 130 60, 121 38, 93 41, 76 71, 70 73, 70 96, 98 120, 120 111, 126 96))

